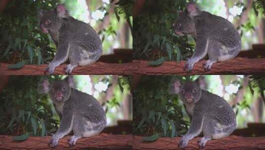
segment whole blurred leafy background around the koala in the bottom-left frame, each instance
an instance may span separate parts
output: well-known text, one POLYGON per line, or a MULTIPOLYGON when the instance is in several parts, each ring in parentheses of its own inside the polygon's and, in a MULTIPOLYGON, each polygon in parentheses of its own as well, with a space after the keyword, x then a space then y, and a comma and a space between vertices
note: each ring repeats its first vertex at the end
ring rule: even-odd
MULTIPOLYGON (((0 135, 46 136, 54 133, 59 126, 59 116, 49 96, 38 94, 37 86, 43 78, 53 82, 66 76, 0 76, 0 135)), ((130 76, 74 75, 74 79, 77 89, 94 96, 106 111, 107 127, 103 132, 131 133, 130 76)))

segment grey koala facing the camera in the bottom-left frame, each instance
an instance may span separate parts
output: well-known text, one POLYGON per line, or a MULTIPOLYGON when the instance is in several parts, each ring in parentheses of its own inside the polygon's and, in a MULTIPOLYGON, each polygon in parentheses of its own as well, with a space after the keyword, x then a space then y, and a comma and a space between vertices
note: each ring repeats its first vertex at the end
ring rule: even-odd
POLYGON ((38 86, 40 94, 49 93, 56 112, 60 115, 60 125, 49 142, 51 147, 59 139, 73 131, 68 143, 71 146, 82 137, 99 134, 106 126, 106 113, 101 104, 91 95, 74 89, 72 76, 50 83, 44 79, 38 86))

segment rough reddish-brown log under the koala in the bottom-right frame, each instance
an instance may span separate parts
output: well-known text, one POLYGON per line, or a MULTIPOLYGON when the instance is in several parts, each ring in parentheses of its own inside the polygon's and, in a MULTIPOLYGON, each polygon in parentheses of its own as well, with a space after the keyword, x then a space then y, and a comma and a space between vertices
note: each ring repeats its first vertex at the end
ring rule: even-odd
MULTIPOLYGON (((185 150, 199 150, 197 141, 191 140, 185 150)), ((181 150, 177 144, 181 138, 159 138, 155 142, 142 142, 142 137, 134 136, 133 150, 181 150)), ((264 150, 265 137, 246 138, 229 136, 220 140, 208 141, 203 150, 264 150)))

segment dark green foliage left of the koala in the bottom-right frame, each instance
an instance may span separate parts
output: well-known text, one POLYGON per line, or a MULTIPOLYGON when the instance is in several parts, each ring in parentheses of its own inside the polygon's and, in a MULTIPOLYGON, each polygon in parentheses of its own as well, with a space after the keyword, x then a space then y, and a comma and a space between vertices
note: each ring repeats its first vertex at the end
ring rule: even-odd
POLYGON ((187 131, 182 108, 176 95, 168 94, 168 85, 176 77, 142 76, 133 94, 133 133, 155 141, 175 137, 187 131), (148 84, 147 84, 148 83, 148 84))

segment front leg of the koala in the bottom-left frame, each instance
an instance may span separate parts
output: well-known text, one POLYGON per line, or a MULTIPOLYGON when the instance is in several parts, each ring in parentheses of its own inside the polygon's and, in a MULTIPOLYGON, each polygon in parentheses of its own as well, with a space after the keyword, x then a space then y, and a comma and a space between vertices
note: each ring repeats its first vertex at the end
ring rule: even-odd
POLYGON ((58 131, 53 135, 52 140, 49 142, 51 147, 55 147, 59 139, 67 135, 72 131, 74 115, 71 110, 63 112, 62 118, 60 120, 60 126, 58 131))

